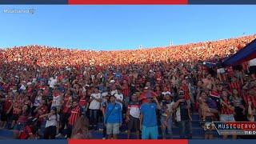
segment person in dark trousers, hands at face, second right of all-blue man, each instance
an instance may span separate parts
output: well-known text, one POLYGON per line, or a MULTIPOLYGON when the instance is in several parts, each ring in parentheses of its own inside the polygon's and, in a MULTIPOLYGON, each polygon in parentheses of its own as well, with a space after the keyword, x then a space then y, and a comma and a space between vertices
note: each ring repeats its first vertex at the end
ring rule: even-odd
POLYGON ((180 138, 192 138, 192 118, 190 116, 190 106, 188 106, 185 99, 185 92, 178 91, 178 100, 174 103, 173 109, 176 110, 176 121, 180 128, 180 138))

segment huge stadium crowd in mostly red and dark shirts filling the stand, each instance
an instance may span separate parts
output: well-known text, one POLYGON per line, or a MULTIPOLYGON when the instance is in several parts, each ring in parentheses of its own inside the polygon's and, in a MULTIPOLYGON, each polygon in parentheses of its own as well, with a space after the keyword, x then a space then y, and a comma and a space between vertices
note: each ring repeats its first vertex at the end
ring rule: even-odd
POLYGON ((254 38, 143 50, 2 49, 0 127, 19 139, 92 138, 103 123, 102 138, 118 138, 126 125, 127 138, 134 130, 157 139, 172 138, 174 123, 180 138, 192 138, 193 113, 202 123, 254 122, 256 60, 222 66, 254 38))

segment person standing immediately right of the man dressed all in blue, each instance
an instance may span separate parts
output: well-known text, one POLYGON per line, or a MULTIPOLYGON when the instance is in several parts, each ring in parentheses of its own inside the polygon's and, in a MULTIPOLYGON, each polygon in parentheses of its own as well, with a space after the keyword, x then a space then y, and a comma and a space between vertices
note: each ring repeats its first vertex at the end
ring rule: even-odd
POLYGON ((161 129, 162 129, 162 139, 166 139, 166 128, 168 130, 168 134, 170 134, 170 138, 172 138, 172 114, 173 114, 173 106, 174 101, 173 95, 166 94, 164 99, 161 102, 161 129))

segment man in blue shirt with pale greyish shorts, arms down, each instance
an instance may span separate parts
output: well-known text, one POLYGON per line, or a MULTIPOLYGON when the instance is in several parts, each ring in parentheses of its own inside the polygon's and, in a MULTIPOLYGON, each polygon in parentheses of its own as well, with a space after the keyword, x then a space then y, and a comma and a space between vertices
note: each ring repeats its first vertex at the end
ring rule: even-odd
POLYGON ((114 95, 110 96, 110 103, 106 106, 106 134, 108 138, 111 138, 113 134, 113 139, 117 139, 117 134, 119 134, 119 127, 122 126, 122 109, 119 103, 115 102, 114 95))

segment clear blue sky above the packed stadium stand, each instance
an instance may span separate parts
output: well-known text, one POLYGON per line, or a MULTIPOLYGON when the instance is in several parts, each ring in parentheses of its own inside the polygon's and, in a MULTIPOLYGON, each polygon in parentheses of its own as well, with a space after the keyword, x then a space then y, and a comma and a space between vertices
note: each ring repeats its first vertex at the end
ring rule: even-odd
POLYGON ((137 49, 256 33, 256 6, 0 6, 0 47, 137 49), (5 14, 3 10, 34 14, 5 14))

